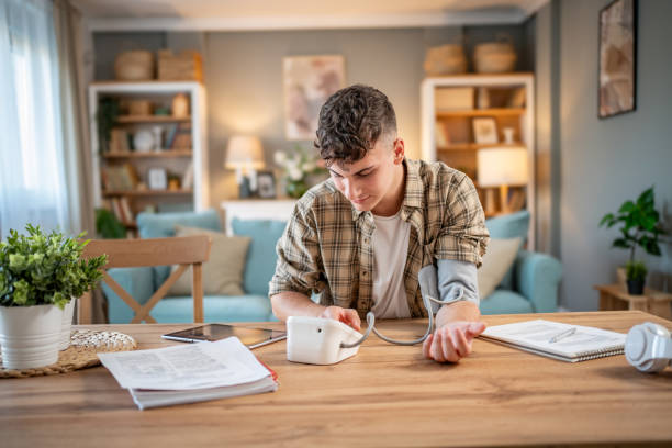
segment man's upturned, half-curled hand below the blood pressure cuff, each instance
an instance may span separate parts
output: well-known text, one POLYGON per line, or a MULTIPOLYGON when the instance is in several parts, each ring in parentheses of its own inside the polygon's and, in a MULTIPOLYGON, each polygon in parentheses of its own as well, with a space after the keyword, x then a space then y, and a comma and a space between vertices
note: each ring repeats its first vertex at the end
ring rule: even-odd
POLYGON ((423 355, 437 362, 458 362, 471 354, 473 338, 485 329, 483 322, 450 322, 430 334, 423 344, 423 355))

